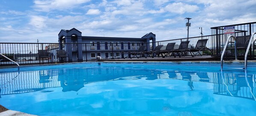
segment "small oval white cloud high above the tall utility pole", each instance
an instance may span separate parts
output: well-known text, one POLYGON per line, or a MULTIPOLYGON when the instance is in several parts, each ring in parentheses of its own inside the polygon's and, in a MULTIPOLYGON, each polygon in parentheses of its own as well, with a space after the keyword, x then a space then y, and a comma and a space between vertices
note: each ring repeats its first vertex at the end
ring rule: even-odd
POLYGON ((184 14, 186 12, 192 13, 199 9, 196 5, 189 5, 185 3, 172 3, 164 8, 166 11, 177 14, 184 14))

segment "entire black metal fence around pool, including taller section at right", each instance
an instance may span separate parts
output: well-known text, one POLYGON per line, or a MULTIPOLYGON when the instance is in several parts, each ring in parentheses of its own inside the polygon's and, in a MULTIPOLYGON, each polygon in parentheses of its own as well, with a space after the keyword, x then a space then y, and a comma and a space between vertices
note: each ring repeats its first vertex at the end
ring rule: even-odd
MULTIPOLYGON (((251 35, 256 31, 256 22, 244 23, 237 25, 227 25, 235 26, 235 37, 251 35)), ((224 27, 213 27, 211 28, 212 34, 200 37, 189 37, 181 39, 172 39, 158 42, 104 42, 104 43, 0 43, 0 53, 9 57, 10 59, 18 62, 18 64, 38 64, 39 54, 38 50, 47 50, 51 55, 48 58, 43 58, 44 62, 56 63, 56 62, 83 62, 92 61, 97 59, 121 59, 125 57, 131 57, 128 53, 136 52, 141 45, 146 45, 145 51, 151 51, 157 45, 164 45, 161 50, 166 48, 168 43, 175 42, 174 48, 179 48, 182 41, 190 41, 188 48, 194 48, 198 40, 207 39, 206 47, 212 51, 203 51, 202 55, 213 55, 220 56, 227 37, 230 34, 224 34, 224 27), (61 59, 57 58, 56 50, 65 50, 68 52, 68 58, 61 59)), ((253 42, 255 42, 256 37, 254 37, 253 42)), ((256 54, 256 44, 252 43, 254 47, 250 49, 250 59, 253 59, 254 54, 256 54)), ((229 48, 233 46, 230 43, 229 48)), ((239 50, 238 55, 243 56, 245 50, 239 50)), ((234 50, 226 51, 226 56, 233 56, 234 50)), ((190 54, 185 54, 190 55, 190 54)), ((161 57, 161 56, 159 56, 161 57)), ((243 56, 244 57, 244 56, 243 56)), ((0 65, 13 65, 7 59, 0 56, 0 65)))

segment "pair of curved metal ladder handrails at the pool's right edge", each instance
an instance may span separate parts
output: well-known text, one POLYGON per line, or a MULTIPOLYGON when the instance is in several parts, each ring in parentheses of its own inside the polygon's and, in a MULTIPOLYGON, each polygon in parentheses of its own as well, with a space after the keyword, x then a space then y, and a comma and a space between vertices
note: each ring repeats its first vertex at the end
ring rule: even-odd
MULTIPOLYGON (((254 34, 256 34, 256 32, 254 32, 254 33, 251 35, 249 44, 248 44, 247 49, 246 49, 246 52, 245 52, 245 54, 244 54, 244 69, 247 69, 247 56, 248 56, 248 53, 249 53, 249 50, 250 50, 251 43, 252 43, 252 41, 253 41, 253 36, 254 36, 254 34)), ((221 57, 220 57, 220 68, 221 68, 221 69, 223 68, 223 57, 224 57, 224 53, 225 53, 225 51, 226 51, 226 48, 227 48, 227 46, 228 46, 228 44, 229 44, 230 38, 232 38, 232 39, 234 40, 233 43, 235 44, 235 60, 237 60, 236 40, 235 40, 235 37, 234 37, 234 36, 230 35, 229 38, 228 38, 228 40, 226 40, 226 44, 225 44, 225 46, 224 46, 224 48, 223 48, 223 51, 222 51, 222 53, 221 53, 221 57)))

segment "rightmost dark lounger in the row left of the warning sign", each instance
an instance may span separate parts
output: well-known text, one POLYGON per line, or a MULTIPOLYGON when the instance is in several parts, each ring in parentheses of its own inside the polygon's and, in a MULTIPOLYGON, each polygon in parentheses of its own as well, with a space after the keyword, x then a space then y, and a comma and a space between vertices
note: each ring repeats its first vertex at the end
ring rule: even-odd
MULTIPOLYGON (((196 42, 196 47, 195 48, 188 48, 188 49, 185 49, 184 51, 190 52, 192 57, 195 57, 196 54, 200 54, 202 56, 200 51, 207 51, 207 50, 211 51, 209 48, 206 47, 207 41, 208 41, 208 39, 198 40, 196 42), (193 52, 196 52, 196 54, 194 54, 193 52)), ((211 51, 211 54, 213 54, 212 51, 211 51)))

